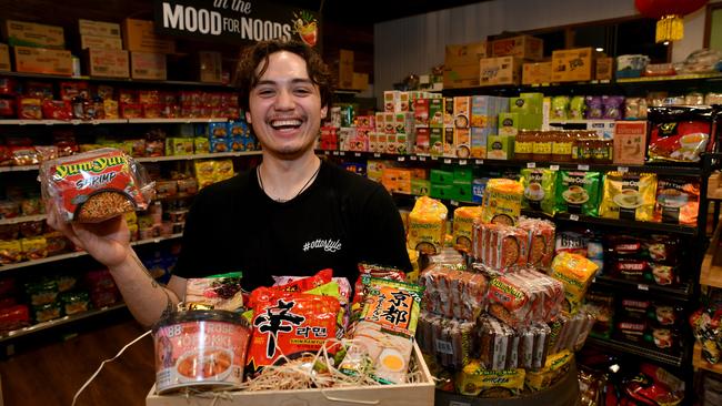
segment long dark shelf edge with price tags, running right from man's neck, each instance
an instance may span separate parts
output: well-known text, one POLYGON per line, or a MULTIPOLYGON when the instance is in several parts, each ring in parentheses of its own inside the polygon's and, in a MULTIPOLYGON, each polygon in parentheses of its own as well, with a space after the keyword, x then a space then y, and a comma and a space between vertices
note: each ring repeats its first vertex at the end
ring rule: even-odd
POLYGON ((363 159, 393 160, 399 162, 439 162, 452 165, 478 165, 494 168, 551 168, 563 171, 595 171, 595 172, 649 172, 663 175, 675 176, 700 176, 702 170, 699 164, 669 164, 669 163, 648 163, 644 165, 620 165, 620 164, 599 164, 599 163, 576 163, 576 162, 535 162, 519 160, 482 160, 478 158, 450 158, 432 155, 398 155, 380 152, 355 152, 355 151, 317 151, 318 154, 327 156, 351 156, 363 159))

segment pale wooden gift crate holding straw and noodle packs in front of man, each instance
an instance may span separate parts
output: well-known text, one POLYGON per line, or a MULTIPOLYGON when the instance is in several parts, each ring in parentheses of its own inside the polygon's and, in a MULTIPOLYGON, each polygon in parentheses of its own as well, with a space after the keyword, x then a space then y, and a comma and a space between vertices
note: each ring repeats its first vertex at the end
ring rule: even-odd
POLYGON ((363 387, 342 387, 332 389, 303 390, 263 390, 263 392, 229 392, 212 393, 203 397, 182 394, 156 395, 156 386, 146 397, 146 406, 270 406, 270 405, 313 405, 339 406, 365 404, 377 406, 433 406, 434 382, 423 362, 421 351, 414 344, 413 353, 417 365, 421 371, 421 382, 415 384, 381 385, 363 387), (227 396, 228 394, 228 396, 227 396))

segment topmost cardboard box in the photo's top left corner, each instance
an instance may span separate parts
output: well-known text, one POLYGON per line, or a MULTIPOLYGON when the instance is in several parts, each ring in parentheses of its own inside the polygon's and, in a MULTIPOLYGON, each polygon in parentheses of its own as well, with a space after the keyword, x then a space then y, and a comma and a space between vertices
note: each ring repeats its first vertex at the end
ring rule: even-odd
POLYGON ((66 48, 66 37, 62 27, 6 20, 1 28, 2 39, 11 47, 66 48))

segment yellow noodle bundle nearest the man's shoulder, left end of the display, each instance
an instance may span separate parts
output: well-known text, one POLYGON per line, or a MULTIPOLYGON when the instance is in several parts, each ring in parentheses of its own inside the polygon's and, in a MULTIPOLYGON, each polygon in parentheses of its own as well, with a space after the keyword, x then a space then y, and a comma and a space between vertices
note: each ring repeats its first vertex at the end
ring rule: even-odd
POLYGON ((441 252, 445 235, 448 210, 443 203, 421 196, 409 213, 407 245, 424 254, 441 252))

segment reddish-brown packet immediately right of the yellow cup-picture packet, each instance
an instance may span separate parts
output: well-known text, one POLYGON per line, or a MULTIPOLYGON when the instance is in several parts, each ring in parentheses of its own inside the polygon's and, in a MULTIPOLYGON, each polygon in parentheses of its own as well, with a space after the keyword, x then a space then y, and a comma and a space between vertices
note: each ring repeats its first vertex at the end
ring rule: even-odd
POLYGON ((662 177, 656 183, 654 221, 696 225, 700 184, 684 179, 662 177))

